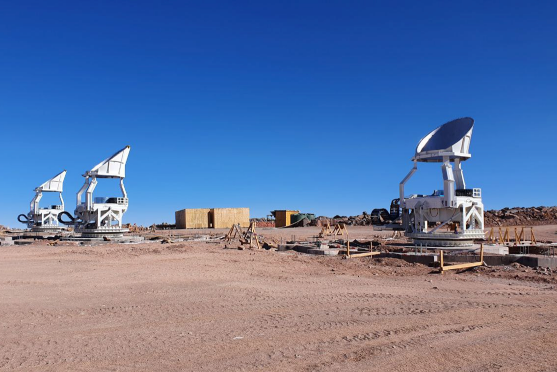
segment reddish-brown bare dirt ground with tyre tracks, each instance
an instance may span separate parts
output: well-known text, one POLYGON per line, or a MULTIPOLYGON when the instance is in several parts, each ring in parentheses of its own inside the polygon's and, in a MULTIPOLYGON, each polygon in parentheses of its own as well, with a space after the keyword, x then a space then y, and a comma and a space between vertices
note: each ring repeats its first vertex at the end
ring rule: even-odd
POLYGON ((557 370, 554 273, 234 248, 1 247, 0 370, 557 370))

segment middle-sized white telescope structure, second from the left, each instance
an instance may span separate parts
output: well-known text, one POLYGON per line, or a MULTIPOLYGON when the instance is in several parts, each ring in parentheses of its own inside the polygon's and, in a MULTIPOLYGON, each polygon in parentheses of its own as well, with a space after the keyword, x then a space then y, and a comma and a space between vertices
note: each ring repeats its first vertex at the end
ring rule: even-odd
POLYGON ((68 212, 58 215, 58 221, 66 225, 74 225, 75 232, 81 233, 83 238, 104 238, 108 236, 122 236, 128 229, 122 226, 122 217, 128 210, 128 194, 124 188, 126 176, 126 162, 130 147, 126 146, 106 160, 102 161, 90 171, 85 172, 85 183, 77 192, 77 205, 74 216, 68 212), (117 178, 120 180, 121 197, 95 197, 93 192, 97 186, 97 179, 117 178), (85 202, 82 195, 85 192, 85 202), (63 221, 62 216, 68 216, 69 221, 63 221))

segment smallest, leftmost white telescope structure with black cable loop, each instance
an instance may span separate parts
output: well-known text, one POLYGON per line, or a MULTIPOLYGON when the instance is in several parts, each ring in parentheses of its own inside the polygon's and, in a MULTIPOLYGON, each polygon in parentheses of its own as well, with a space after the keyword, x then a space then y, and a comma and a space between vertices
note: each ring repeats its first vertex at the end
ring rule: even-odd
POLYGON ((42 183, 35 189, 35 197, 31 200, 30 210, 27 215, 20 214, 17 220, 22 224, 27 224, 27 228, 31 231, 57 231, 61 229, 58 225, 58 215, 64 210, 64 200, 62 199, 62 189, 66 171, 58 173, 50 180, 42 183), (39 202, 43 192, 58 192, 60 196, 60 204, 51 205, 47 208, 41 208, 39 202))

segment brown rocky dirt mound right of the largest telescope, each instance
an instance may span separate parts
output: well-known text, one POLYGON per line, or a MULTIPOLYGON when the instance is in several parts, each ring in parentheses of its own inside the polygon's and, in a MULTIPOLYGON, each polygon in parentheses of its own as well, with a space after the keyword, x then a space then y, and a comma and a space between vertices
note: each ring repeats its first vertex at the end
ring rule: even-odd
POLYGON ((487 227, 553 225, 557 223, 557 206, 488 210, 484 214, 484 220, 487 227))

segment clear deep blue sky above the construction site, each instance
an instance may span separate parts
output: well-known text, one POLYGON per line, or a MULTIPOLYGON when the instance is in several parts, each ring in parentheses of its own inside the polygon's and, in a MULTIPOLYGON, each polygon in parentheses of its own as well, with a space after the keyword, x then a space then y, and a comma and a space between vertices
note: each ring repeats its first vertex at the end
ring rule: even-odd
MULTIPOLYGON (((369 212, 398 196, 419 139, 463 116, 487 209, 555 205, 555 4, 4 2, 0 223, 22 227, 63 169, 72 212, 81 175, 126 144, 125 222, 369 212)), ((441 187, 421 164, 407 190, 441 187)))

